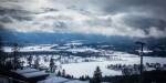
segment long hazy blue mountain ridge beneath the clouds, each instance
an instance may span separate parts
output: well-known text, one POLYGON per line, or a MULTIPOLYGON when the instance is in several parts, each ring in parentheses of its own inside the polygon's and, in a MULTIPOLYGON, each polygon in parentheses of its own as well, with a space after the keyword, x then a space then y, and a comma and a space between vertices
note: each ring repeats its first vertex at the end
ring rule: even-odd
POLYGON ((21 33, 12 31, 0 31, 3 43, 20 43, 20 44, 54 44, 66 43, 79 40, 83 43, 108 43, 121 45, 134 45, 135 41, 145 41, 149 45, 162 44, 166 45, 166 38, 163 39, 138 39, 118 35, 98 35, 98 34, 80 34, 80 33, 21 33))

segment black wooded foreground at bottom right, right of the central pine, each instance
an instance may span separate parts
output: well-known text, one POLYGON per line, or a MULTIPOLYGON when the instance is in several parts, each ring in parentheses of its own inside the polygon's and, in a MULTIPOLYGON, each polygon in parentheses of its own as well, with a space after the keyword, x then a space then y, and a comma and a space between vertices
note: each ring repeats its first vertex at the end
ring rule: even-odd
MULTIPOLYGON (((166 82, 166 71, 146 71, 143 72, 142 83, 165 83, 166 82)), ((118 76, 104 76, 103 82, 110 83, 139 83, 139 75, 118 75, 118 76)))

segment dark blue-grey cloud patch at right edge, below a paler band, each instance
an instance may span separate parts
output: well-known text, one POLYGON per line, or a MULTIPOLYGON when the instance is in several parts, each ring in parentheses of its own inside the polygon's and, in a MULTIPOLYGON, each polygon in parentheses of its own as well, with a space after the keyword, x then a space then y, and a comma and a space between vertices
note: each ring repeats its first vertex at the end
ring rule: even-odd
POLYGON ((147 17, 129 15, 124 17, 124 21, 126 24, 133 28, 147 29, 151 27, 157 27, 159 30, 164 30, 166 28, 166 21, 156 18, 154 19, 147 17))

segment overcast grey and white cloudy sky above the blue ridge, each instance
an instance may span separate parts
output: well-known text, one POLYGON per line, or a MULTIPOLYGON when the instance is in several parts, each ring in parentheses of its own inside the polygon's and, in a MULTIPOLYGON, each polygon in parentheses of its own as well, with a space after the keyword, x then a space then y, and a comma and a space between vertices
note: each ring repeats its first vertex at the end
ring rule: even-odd
POLYGON ((0 28, 166 38, 166 0, 0 0, 0 28))

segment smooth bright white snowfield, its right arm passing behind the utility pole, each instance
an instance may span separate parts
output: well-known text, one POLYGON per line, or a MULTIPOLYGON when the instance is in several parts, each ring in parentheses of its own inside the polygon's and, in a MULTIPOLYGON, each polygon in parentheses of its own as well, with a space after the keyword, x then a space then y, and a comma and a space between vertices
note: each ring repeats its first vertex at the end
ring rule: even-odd
MULTIPOLYGON (((149 63, 162 63, 166 64, 166 58, 144 58, 144 64, 146 62, 149 63)), ((122 75, 121 71, 108 70, 106 66, 108 64, 139 64, 139 58, 124 58, 122 61, 101 61, 101 62, 82 62, 82 63, 71 63, 63 64, 62 68, 65 69, 68 74, 74 75, 75 77, 80 77, 82 75, 93 76, 93 72, 96 66, 101 68, 102 75, 122 75)))

